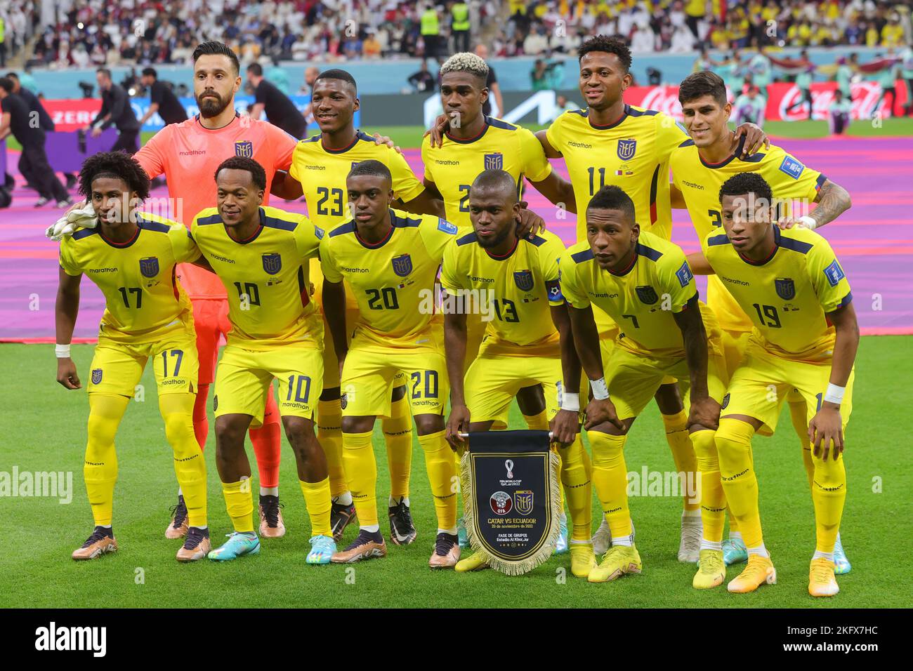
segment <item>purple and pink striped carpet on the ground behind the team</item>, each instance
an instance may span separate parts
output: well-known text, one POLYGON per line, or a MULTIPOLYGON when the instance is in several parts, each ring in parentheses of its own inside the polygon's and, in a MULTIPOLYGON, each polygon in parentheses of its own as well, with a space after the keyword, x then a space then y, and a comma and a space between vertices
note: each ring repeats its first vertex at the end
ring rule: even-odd
MULTIPOLYGON (((827 225, 824 236, 843 262, 863 332, 913 333, 913 220, 904 209, 913 205, 913 137, 777 143, 845 186, 853 197, 852 209, 827 225)), ((415 174, 421 175, 418 150, 406 154, 415 174)), ((11 173, 17 159, 14 152, 7 156, 11 173)), ((567 176, 561 161, 552 163, 567 176)), ((58 246, 44 237, 44 230, 60 212, 49 206, 34 208, 37 194, 22 185, 18 174, 16 181, 13 205, 0 210, 0 341, 53 341, 58 246)), ((167 191, 160 188, 153 195, 164 198, 167 191)), ((565 243, 573 241, 573 215, 559 221, 554 206, 532 188, 527 200, 551 231, 565 243)), ((306 212, 304 203, 273 204, 306 212)), ((697 249, 686 212, 674 213, 673 240, 686 251, 697 249)), ((75 338, 95 336, 102 309, 99 290, 84 280, 75 338)))

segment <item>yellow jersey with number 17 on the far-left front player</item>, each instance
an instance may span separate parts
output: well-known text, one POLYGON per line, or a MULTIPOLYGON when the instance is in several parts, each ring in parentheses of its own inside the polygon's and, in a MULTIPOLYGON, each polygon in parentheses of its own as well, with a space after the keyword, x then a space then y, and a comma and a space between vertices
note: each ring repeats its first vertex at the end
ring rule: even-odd
POLYGON ((184 225, 141 212, 136 235, 111 242, 100 228, 81 228, 60 240, 60 267, 89 275, 105 297, 99 335, 118 342, 157 341, 163 331, 194 332, 190 299, 175 266, 200 257, 184 225))

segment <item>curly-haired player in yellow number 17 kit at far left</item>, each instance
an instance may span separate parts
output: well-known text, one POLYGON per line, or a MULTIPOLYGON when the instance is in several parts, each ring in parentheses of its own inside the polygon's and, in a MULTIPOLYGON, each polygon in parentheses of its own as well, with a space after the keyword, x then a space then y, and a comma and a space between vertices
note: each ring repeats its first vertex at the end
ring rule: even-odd
POLYGON ((152 359, 165 437, 174 474, 184 490, 189 529, 178 561, 202 559, 210 550, 206 526, 206 467, 194 439, 197 370, 190 300, 175 278, 178 263, 200 257, 184 226, 139 211, 149 195, 149 177, 123 152, 89 157, 79 173, 79 191, 99 215, 99 225, 60 242, 57 306, 58 383, 81 389, 69 343, 79 312, 83 274, 105 296, 99 344, 89 379, 89 441, 83 474, 95 529, 75 560, 118 550, 111 528, 117 454, 114 436, 127 404, 152 359))

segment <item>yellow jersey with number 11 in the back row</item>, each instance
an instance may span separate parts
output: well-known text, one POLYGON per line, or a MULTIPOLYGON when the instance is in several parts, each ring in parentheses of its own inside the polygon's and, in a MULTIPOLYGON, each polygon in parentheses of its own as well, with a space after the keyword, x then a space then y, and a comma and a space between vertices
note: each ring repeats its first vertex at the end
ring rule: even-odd
POLYGON ((577 240, 586 239, 586 206, 606 184, 631 197, 642 231, 670 239, 669 156, 688 139, 684 126, 663 112, 631 105, 608 126, 593 125, 589 115, 589 110, 567 110, 546 131, 571 177, 577 240))

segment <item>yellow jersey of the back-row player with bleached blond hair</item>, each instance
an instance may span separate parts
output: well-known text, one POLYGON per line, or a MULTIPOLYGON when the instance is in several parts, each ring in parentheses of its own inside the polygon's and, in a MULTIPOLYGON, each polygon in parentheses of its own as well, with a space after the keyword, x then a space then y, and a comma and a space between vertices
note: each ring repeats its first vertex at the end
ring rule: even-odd
POLYGON ((507 121, 485 118, 476 138, 456 140, 444 135, 440 147, 431 146, 431 136, 422 141, 425 179, 434 182, 444 197, 447 220, 459 227, 460 234, 472 232, 469 220, 469 186, 484 170, 503 170, 523 193, 523 177, 541 182, 551 173, 542 144, 530 131, 507 121))

